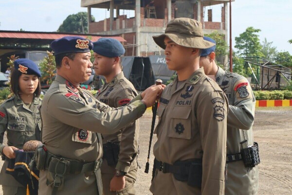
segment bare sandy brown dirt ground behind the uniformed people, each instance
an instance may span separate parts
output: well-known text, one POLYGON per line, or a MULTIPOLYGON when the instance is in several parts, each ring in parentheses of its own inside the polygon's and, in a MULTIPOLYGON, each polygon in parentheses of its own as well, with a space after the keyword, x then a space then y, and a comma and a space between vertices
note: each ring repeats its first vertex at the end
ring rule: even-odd
MULTIPOLYGON (((135 183, 138 195, 150 195, 149 186, 153 164, 151 151, 149 173, 144 173, 147 161, 152 113, 140 119, 140 154, 138 179, 135 183)), ((258 108, 253 125, 255 141, 260 148, 259 195, 292 194, 292 107, 258 108)), ((153 137, 154 144, 156 136, 153 137)), ((153 147, 153 145, 152 145, 153 147)), ((0 167, 2 162, 0 163, 0 167)), ((0 187, 0 195, 2 195, 0 187)))

